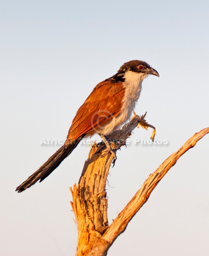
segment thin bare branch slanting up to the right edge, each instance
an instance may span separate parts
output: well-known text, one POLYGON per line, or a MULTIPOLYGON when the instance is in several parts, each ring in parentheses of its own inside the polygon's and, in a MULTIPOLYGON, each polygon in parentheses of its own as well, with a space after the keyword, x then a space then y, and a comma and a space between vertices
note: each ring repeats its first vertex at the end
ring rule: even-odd
POLYGON ((184 145, 175 153, 170 155, 155 172, 149 175, 148 179, 144 182, 140 190, 136 192, 127 206, 120 212, 116 219, 112 222, 110 227, 103 234, 101 239, 93 246, 88 256, 105 256, 107 250, 110 248, 114 240, 125 231, 128 222, 134 217, 136 212, 147 202, 149 195, 157 186, 159 181, 169 171, 169 169, 176 164, 177 160, 194 147, 202 137, 209 133, 209 127, 194 134, 184 145), (105 241, 105 243, 104 243, 105 241))

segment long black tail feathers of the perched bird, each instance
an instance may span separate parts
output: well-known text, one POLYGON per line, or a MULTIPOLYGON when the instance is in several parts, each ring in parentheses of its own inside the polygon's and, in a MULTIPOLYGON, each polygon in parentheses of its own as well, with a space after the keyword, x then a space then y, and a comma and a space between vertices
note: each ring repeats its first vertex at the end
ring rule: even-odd
POLYGON ((49 174, 51 174, 60 164, 61 162, 68 156, 70 153, 77 147, 78 143, 84 137, 82 135, 74 142, 69 145, 63 145, 60 149, 58 149, 36 172, 28 177, 20 186, 16 188, 18 193, 26 190, 26 188, 34 185, 38 180, 42 182, 49 174))

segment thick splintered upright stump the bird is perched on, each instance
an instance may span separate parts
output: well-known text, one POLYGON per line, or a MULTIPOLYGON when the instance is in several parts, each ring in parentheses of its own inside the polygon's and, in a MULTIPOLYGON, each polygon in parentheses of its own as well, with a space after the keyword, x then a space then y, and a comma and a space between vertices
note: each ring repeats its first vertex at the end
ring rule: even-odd
MULTIPOLYGON (((145 115, 135 115, 128 124, 112 133, 109 138, 126 141, 139 122, 143 121, 146 126, 144 117, 145 115)), ((115 150, 121 147, 120 144, 111 146, 115 150)), ((113 155, 109 153, 101 157, 104 154, 101 153, 103 147, 105 146, 101 145, 97 148, 96 144, 91 147, 78 186, 74 185, 73 190, 70 188, 73 195, 71 205, 78 225, 77 256, 87 255, 108 228, 105 187, 113 155)))

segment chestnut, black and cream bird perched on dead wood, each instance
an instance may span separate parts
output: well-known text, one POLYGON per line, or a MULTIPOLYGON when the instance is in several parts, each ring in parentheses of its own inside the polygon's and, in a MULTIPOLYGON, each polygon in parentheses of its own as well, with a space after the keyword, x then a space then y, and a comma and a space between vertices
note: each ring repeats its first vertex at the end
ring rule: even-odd
POLYGON ((142 91, 142 81, 149 75, 159 77, 159 73, 147 62, 131 60, 124 63, 114 76, 96 85, 78 109, 63 146, 18 186, 16 191, 20 193, 38 180, 42 182, 71 154, 83 138, 90 138, 94 134, 100 135, 107 147, 107 153, 113 154, 116 160, 108 135, 131 119, 142 91))

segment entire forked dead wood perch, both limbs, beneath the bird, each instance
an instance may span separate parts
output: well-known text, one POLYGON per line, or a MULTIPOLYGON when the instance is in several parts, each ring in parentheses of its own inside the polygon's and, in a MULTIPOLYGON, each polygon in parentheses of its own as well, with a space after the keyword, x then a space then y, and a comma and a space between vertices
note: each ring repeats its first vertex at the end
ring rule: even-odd
MULTIPOLYGON (((125 141, 130 136, 131 131, 139 124, 145 129, 152 127, 153 133, 155 133, 155 128, 149 125, 144 117, 145 115, 142 117, 135 115, 121 130, 112 133, 110 139, 116 138, 125 141)), ((97 149, 97 146, 94 145, 83 167, 78 186, 74 185, 73 190, 71 188, 73 195, 71 205, 78 224, 76 256, 105 256, 115 239, 124 232, 136 212, 146 203, 149 195, 163 176, 181 155, 194 147, 197 141, 207 133, 209 133, 209 127, 194 134, 178 151, 168 157, 153 174, 149 175, 140 190, 136 192, 110 226, 107 221, 105 186, 113 156, 109 153, 101 158, 102 153, 99 150, 103 146, 99 146, 97 149)), ((113 147, 118 150, 120 146, 114 145, 113 147)))

